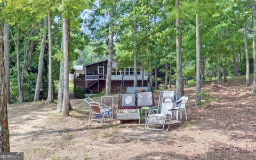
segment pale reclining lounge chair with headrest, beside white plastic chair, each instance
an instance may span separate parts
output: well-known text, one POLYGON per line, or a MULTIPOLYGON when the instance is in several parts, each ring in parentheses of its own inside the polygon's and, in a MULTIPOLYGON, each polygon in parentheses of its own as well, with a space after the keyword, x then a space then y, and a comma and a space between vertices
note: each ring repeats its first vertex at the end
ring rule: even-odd
MULTIPOLYGON (((148 130, 164 130, 166 118, 170 116, 170 122, 171 119, 174 117, 178 122, 178 107, 176 106, 176 100, 177 98, 177 93, 174 91, 162 91, 159 93, 159 102, 158 102, 158 113, 159 114, 154 114, 152 112, 149 113, 146 124, 145 124, 145 129, 148 130), (151 125, 161 125, 162 129, 156 128, 156 127, 151 127, 151 125)), ((168 127, 166 131, 169 130, 170 122, 168 124, 168 127)))

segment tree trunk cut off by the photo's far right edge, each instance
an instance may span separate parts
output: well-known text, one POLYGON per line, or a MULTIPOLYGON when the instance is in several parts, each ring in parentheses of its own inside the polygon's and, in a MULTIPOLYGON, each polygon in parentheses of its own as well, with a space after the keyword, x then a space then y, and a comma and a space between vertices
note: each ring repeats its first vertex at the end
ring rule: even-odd
POLYGON ((253 87, 252 93, 256 94, 256 13, 255 13, 255 2, 252 1, 252 17, 253 17, 253 87))

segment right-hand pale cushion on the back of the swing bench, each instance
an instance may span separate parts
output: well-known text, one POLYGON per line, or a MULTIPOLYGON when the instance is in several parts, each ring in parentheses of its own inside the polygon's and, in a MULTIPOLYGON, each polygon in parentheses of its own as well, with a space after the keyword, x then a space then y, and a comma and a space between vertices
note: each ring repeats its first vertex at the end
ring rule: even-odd
POLYGON ((140 92, 137 98, 138 106, 153 106, 153 94, 151 92, 140 92))

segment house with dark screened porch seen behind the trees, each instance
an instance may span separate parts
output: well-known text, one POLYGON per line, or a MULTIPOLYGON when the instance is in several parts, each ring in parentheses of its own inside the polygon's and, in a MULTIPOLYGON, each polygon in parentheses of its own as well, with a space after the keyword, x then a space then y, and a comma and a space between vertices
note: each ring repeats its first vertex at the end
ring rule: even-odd
MULTIPOLYGON (((86 93, 99 93, 106 87, 108 60, 88 63, 83 66, 83 72, 76 70, 76 78, 74 78, 74 87, 81 86, 86 93), (78 74, 77 74, 78 73, 78 74)), ((111 75, 111 90, 118 92, 122 82, 122 75, 125 76, 125 86, 133 86, 133 78, 136 73, 133 72, 133 67, 117 68, 117 62, 113 61, 111 75)), ((137 68, 138 86, 147 85, 147 75, 141 75, 142 69, 137 68)))

